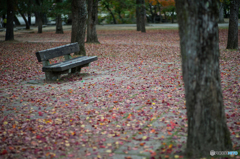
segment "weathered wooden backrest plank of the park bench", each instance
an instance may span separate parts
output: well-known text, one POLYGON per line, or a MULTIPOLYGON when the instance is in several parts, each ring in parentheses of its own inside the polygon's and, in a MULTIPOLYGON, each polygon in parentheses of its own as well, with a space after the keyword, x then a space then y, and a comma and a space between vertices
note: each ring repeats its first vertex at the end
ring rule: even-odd
POLYGON ((78 43, 71 43, 63 46, 58 46, 55 48, 42 50, 36 52, 36 56, 39 62, 48 61, 49 59, 53 59, 55 57, 69 55, 70 53, 78 52, 79 45, 78 43))

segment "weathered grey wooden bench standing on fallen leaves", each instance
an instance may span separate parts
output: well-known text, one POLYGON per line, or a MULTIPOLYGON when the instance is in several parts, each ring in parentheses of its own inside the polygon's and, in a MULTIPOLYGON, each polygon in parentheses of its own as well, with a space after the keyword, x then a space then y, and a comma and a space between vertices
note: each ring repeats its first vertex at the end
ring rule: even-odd
POLYGON ((80 72, 82 67, 87 67, 90 62, 97 60, 97 56, 72 58, 70 53, 78 51, 79 45, 76 42, 36 52, 38 61, 43 63, 42 71, 45 72, 46 80, 55 81, 60 78, 61 74, 80 72), (49 59, 59 56, 64 56, 65 61, 54 64, 49 63, 49 59))

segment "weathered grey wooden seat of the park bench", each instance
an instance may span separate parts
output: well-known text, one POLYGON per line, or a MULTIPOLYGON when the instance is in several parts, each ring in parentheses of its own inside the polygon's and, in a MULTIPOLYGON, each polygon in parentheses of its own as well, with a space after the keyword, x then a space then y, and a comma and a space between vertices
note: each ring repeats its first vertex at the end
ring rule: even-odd
POLYGON ((57 63, 57 64, 52 64, 52 65, 49 65, 49 66, 44 66, 42 68, 42 71, 43 72, 48 72, 48 71, 65 71, 67 69, 70 69, 70 68, 74 68, 74 67, 77 67, 77 66, 82 66, 82 65, 85 65, 85 64, 88 64, 92 61, 96 61, 97 60, 97 56, 91 56, 91 57, 88 57, 88 56, 81 56, 81 57, 77 57, 77 58, 74 58, 74 59, 70 59, 70 60, 66 60, 66 61, 63 61, 63 62, 60 62, 60 63, 57 63))

